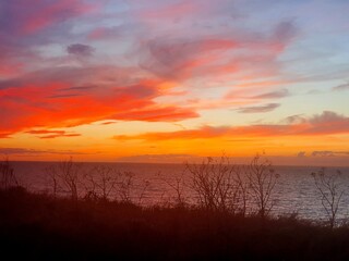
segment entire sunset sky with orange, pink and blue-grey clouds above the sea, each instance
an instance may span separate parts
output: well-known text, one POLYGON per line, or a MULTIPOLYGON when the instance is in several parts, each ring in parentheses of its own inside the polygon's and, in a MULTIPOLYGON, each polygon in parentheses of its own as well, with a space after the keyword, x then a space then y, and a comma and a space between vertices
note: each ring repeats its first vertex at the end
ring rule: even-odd
POLYGON ((2 0, 0 154, 349 165, 347 0, 2 0))

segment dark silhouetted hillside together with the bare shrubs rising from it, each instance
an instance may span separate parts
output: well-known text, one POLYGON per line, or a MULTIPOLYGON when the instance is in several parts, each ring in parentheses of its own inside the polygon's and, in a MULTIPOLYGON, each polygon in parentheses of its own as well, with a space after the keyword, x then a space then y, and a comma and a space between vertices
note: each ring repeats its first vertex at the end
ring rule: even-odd
MULTIPOLYGON (((16 182, 1 187, 3 257, 13 260, 349 259, 349 227, 334 225, 341 190, 336 178, 327 178, 324 172, 313 175, 322 197, 327 197, 327 200, 323 198, 324 207, 334 214, 329 215, 333 219, 329 226, 294 214, 269 215, 277 174, 268 161, 258 157, 251 164, 239 166, 224 157, 188 164, 192 178, 189 184, 184 184, 183 176, 174 179, 174 184, 169 183, 177 201, 167 207, 141 207, 148 184, 137 185, 144 187, 134 199, 132 173, 115 173, 105 166, 85 173, 85 194, 79 196, 82 172, 69 159, 48 171, 56 181, 52 194, 29 192, 16 182), (184 185, 196 192, 196 203, 185 200, 181 189, 184 185), (64 187, 70 197, 57 197, 58 187, 64 187), (328 194, 326 189, 336 192, 328 194), (112 190, 117 191, 113 199, 112 190), (255 211, 246 211, 246 202, 252 202, 255 211)), ((1 167, 7 170, 1 171, 2 175, 11 173, 12 181, 16 181, 14 172, 8 171, 13 170, 8 160, 1 167)))

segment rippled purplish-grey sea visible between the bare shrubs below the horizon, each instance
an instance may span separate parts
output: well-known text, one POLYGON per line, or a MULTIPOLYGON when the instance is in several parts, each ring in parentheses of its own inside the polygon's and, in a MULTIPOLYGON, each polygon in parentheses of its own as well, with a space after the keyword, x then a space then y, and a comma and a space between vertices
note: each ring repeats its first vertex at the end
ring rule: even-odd
MULTIPOLYGON (((11 162, 14 167, 15 175, 21 183, 32 191, 52 192, 52 181, 49 173, 45 171, 50 165, 57 165, 53 162, 11 162)), ((80 182, 79 194, 81 197, 92 189, 88 175, 95 181, 98 174, 92 172, 97 165, 105 165, 120 173, 132 173, 131 181, 128 175, 119 175, 109 173, 110 176, 122 181, 129 186, 123 187, 123 192, 141 204, 160 204, 171 202, 176 198, 176 179, 180 181, 179 185, 182 189, 182 196, 186 201, 194 200, 195 195, 190 188, 191 175, 185 172, 183 164, 148 164, 148 163, 80 163, 80 182), (97 176, 96 176, 97 175, 97 176)), ((273 200, 275 204, 272 214, 292 214, 297 213, 302 219, 326 220, 326 210, 322 204, 322 197, 315 187, 312 172, 317 172, 318 166, 274 166, 276 173, 279 174, 275 189, 273 190, 273 200)), ((338 191, 344 190, 339 208, 338 217, 349 217, 349 167, 327 167, 326 173, 334 173, 337 170, 341 175, 337 179, 338 191)), ((109 187, 107 187, 109 189, 109 187)), ((98 187, 95 187, 97 190, 98 187)), ((64 194, 63 186, 59 189, 59 194, 64 194)), ((115 199, 119 197, 118 189, 113 188, 108 191, 108 197, 115 199)), ((253 206, 249 207, 253 210, 253 206)))

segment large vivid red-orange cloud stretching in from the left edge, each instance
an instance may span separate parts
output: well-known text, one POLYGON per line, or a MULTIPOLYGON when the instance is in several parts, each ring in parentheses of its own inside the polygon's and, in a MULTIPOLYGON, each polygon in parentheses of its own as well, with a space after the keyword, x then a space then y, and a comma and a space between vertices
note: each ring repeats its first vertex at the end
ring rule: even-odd
POLYGON ((81 72, 56 74, 57 79, 44 73, 0 82, 2 137, 33 127, 68 127, 101 120, 173 122, 198 116, 191 109, 157 104, 153 99, 161 95, 159 80, 74 87, 74 82, 85 77, 81 72))

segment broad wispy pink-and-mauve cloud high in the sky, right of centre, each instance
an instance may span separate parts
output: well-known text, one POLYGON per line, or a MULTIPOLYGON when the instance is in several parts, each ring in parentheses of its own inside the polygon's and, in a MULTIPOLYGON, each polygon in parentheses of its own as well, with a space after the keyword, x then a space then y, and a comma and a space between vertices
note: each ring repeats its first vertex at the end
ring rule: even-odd
POLYGON ((136 55, 142 69, 180 82, 275 77, 280 69, 277 58, 297 33, 293 23, 282 22, 269 35, 238 28, 229 35, 167 35, 144 41, 136 55))

